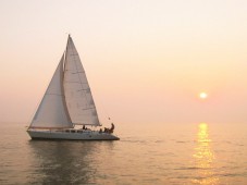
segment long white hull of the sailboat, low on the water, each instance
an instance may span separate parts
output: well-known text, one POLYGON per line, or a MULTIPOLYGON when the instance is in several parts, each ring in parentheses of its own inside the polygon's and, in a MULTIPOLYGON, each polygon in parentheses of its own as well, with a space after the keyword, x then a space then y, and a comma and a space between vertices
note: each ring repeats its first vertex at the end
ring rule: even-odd
POLYGON ((119 140, 120 138, 109 134, 99 133, 97 131, 49 131, 49 130, 27 130, 32 139, 65 139, 65 140, 119 140))

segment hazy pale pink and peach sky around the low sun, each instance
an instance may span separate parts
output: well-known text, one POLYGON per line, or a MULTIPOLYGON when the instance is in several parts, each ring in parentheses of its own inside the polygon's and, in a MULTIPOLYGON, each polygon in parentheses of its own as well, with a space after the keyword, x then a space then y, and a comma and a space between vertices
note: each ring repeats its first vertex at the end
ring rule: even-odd
POLYGON ((0 12, 1 122, 32 121, 67 33, 101 120, 247 122, 246 0, 1 0, 0 12))

